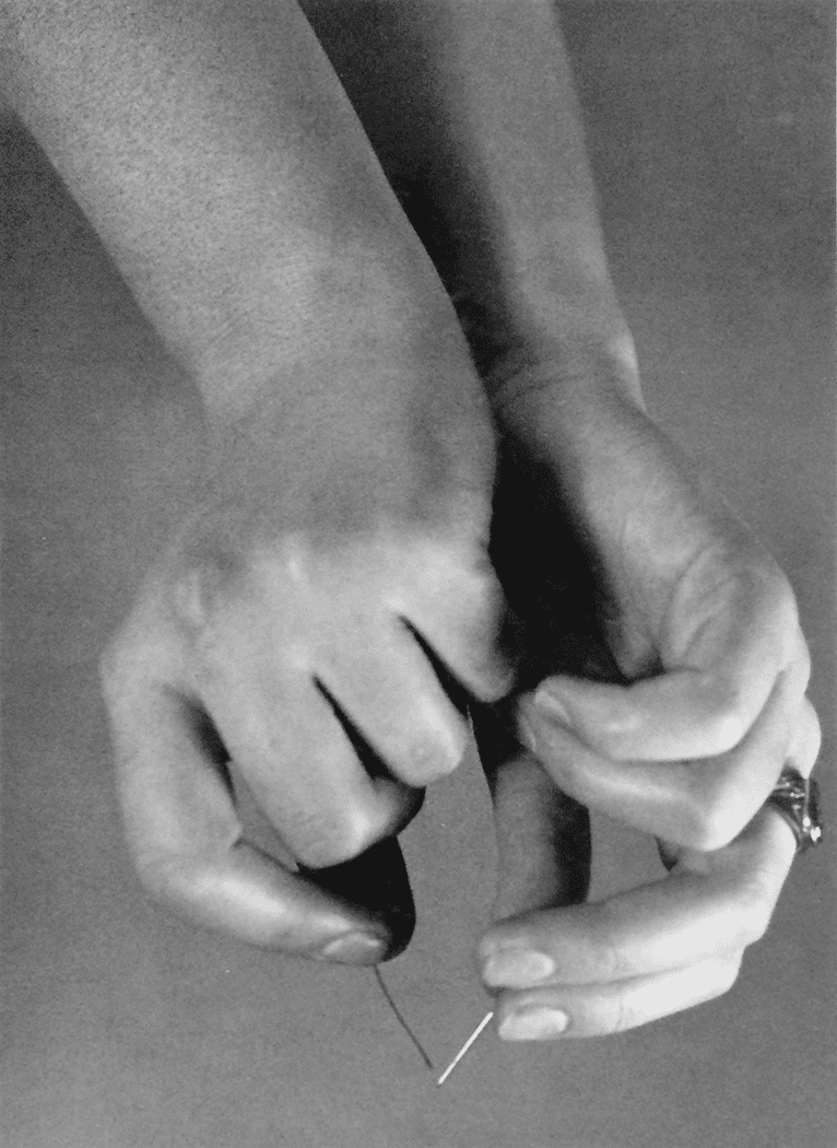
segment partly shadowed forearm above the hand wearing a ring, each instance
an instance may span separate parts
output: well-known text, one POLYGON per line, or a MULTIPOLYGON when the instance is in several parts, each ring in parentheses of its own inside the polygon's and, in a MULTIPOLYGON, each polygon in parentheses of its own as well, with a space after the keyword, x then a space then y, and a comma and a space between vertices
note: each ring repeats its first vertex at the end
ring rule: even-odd
MULTIPOLYGON (((608 274, 552 3, 371 7, 378 48, 373 64, 362 42, 354 48, 360 63, 345 64, 350 94, 388 171, 396 180, 410 173, 407 208, 417 203, 414 223, 490 390, 499 400, 511 374, 538 364, 565 389, 573 379, 589 388, 599 374, 636 397, 633 348, 608 274), (371 72, 374 83, 365 86, 358 71, 371 72), (382 80, 399 101, 398 116, 382 107, 382 80)), ((328 36, 333 6, 324 8, 328 36)), ((341 39, 352 34, 342 30, 341 39)), ((334 52, 347 49, 337 42, 334 52)))

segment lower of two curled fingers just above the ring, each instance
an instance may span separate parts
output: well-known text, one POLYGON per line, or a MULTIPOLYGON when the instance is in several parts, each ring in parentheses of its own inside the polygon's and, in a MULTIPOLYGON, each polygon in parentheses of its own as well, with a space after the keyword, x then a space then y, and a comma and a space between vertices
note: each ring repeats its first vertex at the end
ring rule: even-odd
POLYGON ((603 758, 525 704, 523 736, 556 784, 577 800, 666 841, 709 851, 728 844, 767 800, 803 700, 791 676, 780 674, 743 740, 728 753, 697 761, 603 758))

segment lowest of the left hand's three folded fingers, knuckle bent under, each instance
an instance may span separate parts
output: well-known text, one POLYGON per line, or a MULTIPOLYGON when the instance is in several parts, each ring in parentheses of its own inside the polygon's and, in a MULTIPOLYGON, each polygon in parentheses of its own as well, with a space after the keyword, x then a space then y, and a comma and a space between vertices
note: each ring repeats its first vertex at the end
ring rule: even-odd
MULTIPOLYGON (((224 653, 219 660, 226 664, 224 653)), ((202 700, 259 806, 311 868, 346 861, 390 836, 414 794, 361 765, 338 712, 314 682, 282 666, 234 657, 235 673, 205 683, 202 700)))

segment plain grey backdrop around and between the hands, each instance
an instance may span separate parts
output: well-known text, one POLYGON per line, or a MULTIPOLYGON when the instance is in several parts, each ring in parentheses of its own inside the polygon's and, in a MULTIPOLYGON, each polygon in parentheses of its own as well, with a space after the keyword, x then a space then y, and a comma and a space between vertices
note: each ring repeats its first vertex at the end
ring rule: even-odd
MULTIPOLYGON (((562 6, 651 410, 797 588, 834 757, 831 5, 562 6)), ((95 659, 180 512, 194 396, 48 164, 2 121, 8 1148, 826 1148, 834 839, 719 1001, 620 1037, 486 1035, 435 1088, 369 972, 148 906, 95 659)), ((597 822, 596 891, 658 869, 597 822)), ((471 761, 405 835, 420 925, 385 976, 444 1065, 486 1009, 493 847, 471 761)))

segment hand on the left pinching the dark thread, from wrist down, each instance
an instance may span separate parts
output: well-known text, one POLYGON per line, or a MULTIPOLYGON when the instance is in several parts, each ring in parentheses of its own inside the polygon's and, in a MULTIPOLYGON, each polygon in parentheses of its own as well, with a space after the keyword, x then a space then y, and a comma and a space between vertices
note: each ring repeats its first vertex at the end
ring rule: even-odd
POLYGON ((257 945, 363 964, 413 925, 385 839, 460 762, 464 698, 510 685, 479 382, 456 356, 405 358, 357 386, 351 365, 328 391, 304 380, 313 426, 263 412, 216 428, 200 504, 102 664, 151 894, 257 945), (341 394, 363 400, 341 410, 341 394), (296 872, 245 839, 230 762, 296 872))

